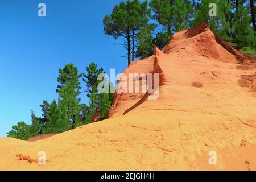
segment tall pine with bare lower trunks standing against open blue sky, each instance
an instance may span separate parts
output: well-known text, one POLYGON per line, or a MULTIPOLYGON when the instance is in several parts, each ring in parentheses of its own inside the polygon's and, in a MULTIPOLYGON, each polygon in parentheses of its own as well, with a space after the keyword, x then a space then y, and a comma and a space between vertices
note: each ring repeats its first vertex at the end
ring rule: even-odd
POLYGON ((128 65, 134 60, 137 32, 148 23, 150 13, 147 1, 127 0, 116 5, 112 14, 106 15, 103 20, 106 35, 112 35, 115 39, 124 38, 121 45, 127 49, 128 65))

